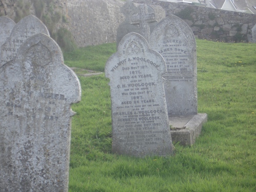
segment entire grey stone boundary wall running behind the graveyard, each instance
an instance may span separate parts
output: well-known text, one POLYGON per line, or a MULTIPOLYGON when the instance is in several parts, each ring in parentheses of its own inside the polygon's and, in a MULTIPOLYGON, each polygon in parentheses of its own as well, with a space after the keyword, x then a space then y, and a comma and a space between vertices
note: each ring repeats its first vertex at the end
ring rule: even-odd
MULTIPOLYGON (((79 47, 116 41, 116 30, 124 21, 120 8, 125 2, 120 0, 46 0, 42 10, 35 9, 35 2, 40 1, 0 0, 0 16, 15 21, 22 16, 37 15, 50 32, 61 27, 68 29, 79 47), (57 19, 57 22, 47 24, 51 19, 57 19)), ((251 29, 256 24, 256 15, 157 0, 146 2, 163 7, 166 16, 175 14, 184 19, 199 38, 225 42, 252 41, 251 29)))

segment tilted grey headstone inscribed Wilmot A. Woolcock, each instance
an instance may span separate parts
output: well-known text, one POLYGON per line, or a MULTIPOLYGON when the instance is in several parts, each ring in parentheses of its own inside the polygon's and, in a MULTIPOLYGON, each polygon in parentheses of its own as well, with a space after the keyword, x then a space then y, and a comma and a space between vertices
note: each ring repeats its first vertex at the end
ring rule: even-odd
POLYGON ((113 153, 145 156, 172 153, 162 74, 162 56, 137 33, 125 35, 106 62, 112 102, 113 153))

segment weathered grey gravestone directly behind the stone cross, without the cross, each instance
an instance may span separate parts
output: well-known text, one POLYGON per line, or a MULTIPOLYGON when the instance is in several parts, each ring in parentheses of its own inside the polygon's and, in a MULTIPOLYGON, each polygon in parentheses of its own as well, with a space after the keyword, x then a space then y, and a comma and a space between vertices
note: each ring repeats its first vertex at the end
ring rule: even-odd
MULTIPOLYGON (((117 29, 117 46, 124 35, 131 32, 136 32, 140 34, 139 22, 132 22, 132 16, 138 14, 139 5, 140 4, 135 4, 131 0, 128 0, 124 4, 124 6, 121 7, 120 11, 124 14, 125 20, 117 29)), ((147 23, 150 26, 150 31, 152 32, 158 22, 160 22, 160 20, 165 17, 165 11, 161 6, 157 5, 146 5, 146 7, 147 10, 145 11, 147 11, 148 14, 155 15, 155 19, 153 19, 150 23, 147 23)))

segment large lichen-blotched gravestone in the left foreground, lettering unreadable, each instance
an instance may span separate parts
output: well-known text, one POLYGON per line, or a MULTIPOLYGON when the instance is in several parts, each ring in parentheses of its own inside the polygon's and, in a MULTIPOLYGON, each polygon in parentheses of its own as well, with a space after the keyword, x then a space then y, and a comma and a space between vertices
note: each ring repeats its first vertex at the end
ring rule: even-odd
POLYGON ((68 191, 70 105, 80 83, 56 42, 29 37, 0 67, 0 191, 68 191))

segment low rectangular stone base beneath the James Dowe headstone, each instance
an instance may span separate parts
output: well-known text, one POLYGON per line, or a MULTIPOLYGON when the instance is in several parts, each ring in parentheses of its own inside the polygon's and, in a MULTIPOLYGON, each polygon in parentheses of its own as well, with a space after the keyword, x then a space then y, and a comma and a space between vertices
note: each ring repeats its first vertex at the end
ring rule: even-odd
POLYGON ((172 125, 170 135, 173 142, 182 145, 192 145, 201 134, 202 126, 207 122, 207 114, 176 115, 169 116, 169 124, 172 125))

